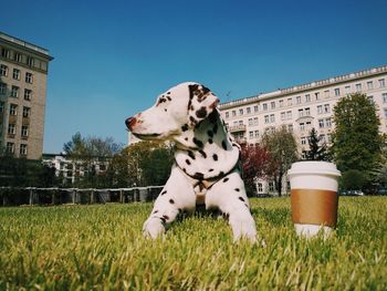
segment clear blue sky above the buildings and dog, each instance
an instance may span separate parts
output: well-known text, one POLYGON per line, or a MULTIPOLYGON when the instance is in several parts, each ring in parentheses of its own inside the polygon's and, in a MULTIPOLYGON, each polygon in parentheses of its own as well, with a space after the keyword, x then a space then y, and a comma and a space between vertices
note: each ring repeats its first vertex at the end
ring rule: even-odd
POLYGON ((0 31, 50 50, 44 152, 126 143, 126 117, 184 81, 222 102, 387 64, 386 0, 3 1, 0 31), (227 93, 229 93, 227 96, 227 93))

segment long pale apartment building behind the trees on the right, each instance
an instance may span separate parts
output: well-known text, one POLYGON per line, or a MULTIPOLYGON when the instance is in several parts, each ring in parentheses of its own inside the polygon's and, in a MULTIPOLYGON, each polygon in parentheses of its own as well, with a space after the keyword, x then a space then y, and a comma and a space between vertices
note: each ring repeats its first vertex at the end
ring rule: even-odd
POLYGON ((264 132, 285 125, 302 152, 308 148, 313 127, 323 142, 331 143, 333 108, 341 97, 355 92, 376 103, 380 132, 387 133, 387 65, 222 103, 219 108, 239 143, 255 144, 264 132))

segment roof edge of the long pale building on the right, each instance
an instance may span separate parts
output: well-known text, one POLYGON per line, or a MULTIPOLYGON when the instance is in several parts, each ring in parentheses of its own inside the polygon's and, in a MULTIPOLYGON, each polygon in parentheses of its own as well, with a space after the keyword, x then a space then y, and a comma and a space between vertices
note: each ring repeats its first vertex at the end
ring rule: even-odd
POLYGON ((250 104, 250 103, 253 103, 253 102, 257 102, 260 100, 264 100, 264 98, 270 98, 270 97, 281 96, 281 95, 289 95, 289 94, 301 92, 301 91, 306 91, 306 90, 317 89, 317 87, 322 87, 322 86, 326 86, 326 85, 343 83, 343 82, 347 82, 347 81, 352 81, 352 80, 356 80, 356 79, 362 79, 362 77, 366 77, 366 76, 370 76, 370 75, 377 75, 377 74, 386 73, 386 72, 387 72, 387 65, 381 65, 381 66, 373 67, 369 70, 363 70, 363 71, 358 71, 358 72, 351 73, 351 74, 338 75, 338 76, 334 76, 334 77, 330 77, 330 79, 324 79, 324 80, 320 80, 320 81, 305 83, 302 85, 291 86, 291 87, 286 87, 286 89, 279 89, 276 91, 261 93, 261 94, 250 96, 250 97, 244 97, 244 98, 239 98, 239 100, 234 100, 234 101, 230 101, 230 102, 224 102, 224 103, 221 103, 219 105, 219 107, 221 110, 224 110, 224 108, 233 107, 237 105, 250 104))

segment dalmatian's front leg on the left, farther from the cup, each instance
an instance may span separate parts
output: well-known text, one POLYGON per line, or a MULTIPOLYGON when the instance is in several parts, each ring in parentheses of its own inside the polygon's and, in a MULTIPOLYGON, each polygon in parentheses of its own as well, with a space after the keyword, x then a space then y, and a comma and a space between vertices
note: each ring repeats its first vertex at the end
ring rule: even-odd
POLYGON ((195 204, 192 185, 174 166, 168 181, 155 201, 149 218, 144 224, 144 235, 153 239, 157 238, 165 232, 166 226, 171 224, 179 212, 192 210, 195 204))

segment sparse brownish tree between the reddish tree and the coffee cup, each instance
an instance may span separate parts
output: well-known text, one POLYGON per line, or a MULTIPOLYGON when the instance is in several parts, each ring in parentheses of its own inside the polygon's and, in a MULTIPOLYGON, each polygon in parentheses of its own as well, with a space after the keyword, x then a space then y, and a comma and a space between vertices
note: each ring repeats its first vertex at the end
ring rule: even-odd
POLYGON ((285 126, 281 126, 264 133, 262 145, 270 153, 269 172, 274 179, 279 196, 282 196, 283 176, 291 165, 299 159, 296 141, 285 126))

